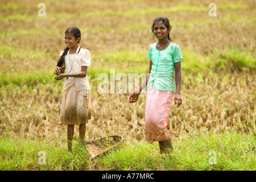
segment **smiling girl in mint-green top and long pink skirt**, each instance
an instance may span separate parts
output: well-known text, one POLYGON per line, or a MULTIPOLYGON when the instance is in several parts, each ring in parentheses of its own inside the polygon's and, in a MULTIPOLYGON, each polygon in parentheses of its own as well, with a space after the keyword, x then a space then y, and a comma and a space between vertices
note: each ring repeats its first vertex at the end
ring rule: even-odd
POLYGON ((171 26, 167 18, 156 18, 152 24, 152 33, 157 43, 148 48, 150 59, 147 78, 139 86, 139 90, 131 93, 129 102, 136 102, 139 93, 147 86, 145 110, 145 137, 149 141, 159 141, 160 152, 172 149, 171 135, 168 131, 168 111, 174 99, 175 105, 182 104, 180 97, 181 64, 183 59, 179 45, 171 42, 171 26), (174 81, 175 70, 175 81, 174 81), (176 92, 175 92, 176 91, 176 92))

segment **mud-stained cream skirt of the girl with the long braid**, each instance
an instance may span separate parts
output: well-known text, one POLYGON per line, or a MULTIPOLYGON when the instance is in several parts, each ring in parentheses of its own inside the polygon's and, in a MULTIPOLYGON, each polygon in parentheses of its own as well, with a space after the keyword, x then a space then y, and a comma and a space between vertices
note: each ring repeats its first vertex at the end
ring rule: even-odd
POLYGON ((90 90, 76 91, 75 85, 64 90, 60 107, 60 125, 80 125, 91 115, 90 90))

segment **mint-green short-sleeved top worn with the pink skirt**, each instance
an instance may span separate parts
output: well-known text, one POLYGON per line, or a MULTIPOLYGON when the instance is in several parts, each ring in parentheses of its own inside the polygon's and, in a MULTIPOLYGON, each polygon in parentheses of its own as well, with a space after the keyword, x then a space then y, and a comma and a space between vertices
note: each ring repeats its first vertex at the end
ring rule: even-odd
POLYGON ((183 59, 180 46, 172 42, 166 49, 158 51, 156 44, 151 44, 147 53, 147 58, 152 61, 147 90, 154 84, 155 90, 175 92, 174 63, 183 59))

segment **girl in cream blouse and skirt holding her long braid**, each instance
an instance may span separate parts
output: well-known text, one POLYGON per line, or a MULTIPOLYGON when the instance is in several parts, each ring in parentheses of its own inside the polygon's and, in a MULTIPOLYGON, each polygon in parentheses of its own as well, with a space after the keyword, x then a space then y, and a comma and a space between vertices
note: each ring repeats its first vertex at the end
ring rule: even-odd
POLYGON ((60 125, 67 125, 68 151, 72 151, 74 125, 79 125, 79 138, 85 137, 85 123, 90 119, 90 86, 87 68, 90 67, 90 52, 81 48, 79 28, 69 27, 65 31, 67 47, 60 52, 60 58, 53 73, 56 80, 64 82, 64 93, 60 109, 60 125))

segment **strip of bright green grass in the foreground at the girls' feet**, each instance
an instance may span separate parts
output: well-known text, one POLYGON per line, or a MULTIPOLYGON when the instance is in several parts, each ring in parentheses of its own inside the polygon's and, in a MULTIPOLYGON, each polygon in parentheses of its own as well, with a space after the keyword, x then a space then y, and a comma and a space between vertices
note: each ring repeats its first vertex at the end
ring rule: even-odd
POLYGON ((234 131, 183 133, 173 139, 174 150, 167 155, 159 153, 157 142, 125 140, 115 150, 90 161, 88 151, 76 140, 73 152, 67 152, 62 135, 55 140, 6 136, 0 140, 0 170, 247 171, 256 170, 255 142, 255 135, 234 131), (46 164, 40 164, 39 151, 45 152, 46 164))

